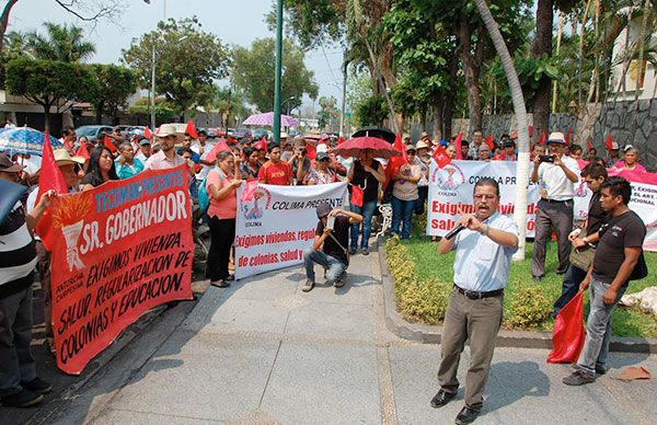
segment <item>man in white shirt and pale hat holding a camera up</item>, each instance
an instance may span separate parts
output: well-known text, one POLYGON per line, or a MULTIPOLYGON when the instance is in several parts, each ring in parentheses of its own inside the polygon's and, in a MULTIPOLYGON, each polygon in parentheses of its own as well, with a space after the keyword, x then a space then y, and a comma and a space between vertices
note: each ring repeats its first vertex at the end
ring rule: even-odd
POLYGON ((569 265, 570 242, 568 234, 573 230, 574 184, 579 182, 579 165, 568 157, 563 133, 552 133, 548 139, 548 156, 534 156, 531 181, 540 183, 546 197, 539 200, 537 213, 531 274, 535 282, 545 275, 545 245, 550 237, 550 227, 556 232, 558 246, 558 266, 555 273, 566 273, 569 265))

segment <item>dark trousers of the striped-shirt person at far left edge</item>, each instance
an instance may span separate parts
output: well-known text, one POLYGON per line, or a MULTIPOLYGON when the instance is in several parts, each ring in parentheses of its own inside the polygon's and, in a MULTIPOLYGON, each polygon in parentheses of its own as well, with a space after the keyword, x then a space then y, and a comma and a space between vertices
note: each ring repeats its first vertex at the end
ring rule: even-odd
MULTIPOLYGON (((34 276, 32 276, 34 279, 34 276)), ((32 287, 0 298, 0 395, 21 391, 36 378, 32 342, 32 287)))

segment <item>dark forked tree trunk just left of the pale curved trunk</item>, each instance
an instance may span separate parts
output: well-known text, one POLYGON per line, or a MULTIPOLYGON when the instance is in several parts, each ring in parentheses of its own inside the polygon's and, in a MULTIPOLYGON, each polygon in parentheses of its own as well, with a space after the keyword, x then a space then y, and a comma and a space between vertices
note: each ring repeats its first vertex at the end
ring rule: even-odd
POLYGON ((468 14, 459 15, 457 27, 457 55, 463 64, 465 77, 465 90, 468 91, 468 112, 470 114, 470 131, 482 127, 482 89, 480 87, 480 73, 483 59, 483 39, 477 41, 474 55, 472 54, 472 27, 468 14))

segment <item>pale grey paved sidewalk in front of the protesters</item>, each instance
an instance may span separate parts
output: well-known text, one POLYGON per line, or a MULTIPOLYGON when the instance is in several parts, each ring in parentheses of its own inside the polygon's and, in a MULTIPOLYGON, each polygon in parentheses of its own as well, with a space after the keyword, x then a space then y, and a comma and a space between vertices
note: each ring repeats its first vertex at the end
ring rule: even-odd
MULTIPOLYGON (((436 424, 463 404, 435 410, 439 346, 384 328, 377 253, 351 256, 347 285, 301 291, 301 266, 209 288, 189 317, 113 391, 99 380, 53 417, 69 423, 436 424)), ((138 347, 132 348, 138 353, 138 347)), ((461 375, 468 363, 468 349, 461 375)), ((654 423, 655 381, 623 383, 612 369, 569 388, 546 351, 499 348, 481 424, 654 423)), ((146 356, 146 355, 145 355, 146 356)), ((657 357, 612 353, 620 368, 657 372, 657 357)), ((118 367, 115 365, 115 367, 118 367)), ((125 365, 129 368, 129 365, 125 365)))

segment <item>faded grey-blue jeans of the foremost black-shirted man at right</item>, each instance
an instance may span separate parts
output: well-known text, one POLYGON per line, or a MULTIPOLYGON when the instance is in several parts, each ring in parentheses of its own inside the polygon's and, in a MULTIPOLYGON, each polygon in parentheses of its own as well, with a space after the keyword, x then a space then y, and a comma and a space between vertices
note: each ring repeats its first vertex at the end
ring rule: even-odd
POLYGON ((590 312, 586 321, 586 342, 584 349, 577 360, 577 366, 589 374, 596 374, 596 369, 607 370, 607 355, 609 354, 609 341, 611 340, 611 315, 616 302, 625 294, 620 288, 613 305, 607 306, 602 302, 602 296, 611 285, 604 284, 591 277, 590 312))

